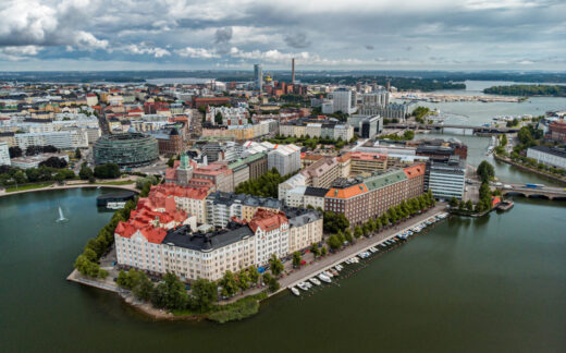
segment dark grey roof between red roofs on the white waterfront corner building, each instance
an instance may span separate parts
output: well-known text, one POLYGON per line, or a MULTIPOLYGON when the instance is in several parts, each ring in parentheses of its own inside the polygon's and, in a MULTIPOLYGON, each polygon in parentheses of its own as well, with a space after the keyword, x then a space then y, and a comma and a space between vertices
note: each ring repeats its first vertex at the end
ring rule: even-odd
POLYGON ((249 227, 231 224, 232 229, 223 229, 210 233, 190 233, 189 226, 183 226, 168 231, 163 244, 175 245, 199 252, 210 252, 214 248, 226 246, 247 236, 254 236, 249 227))

